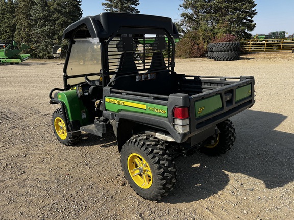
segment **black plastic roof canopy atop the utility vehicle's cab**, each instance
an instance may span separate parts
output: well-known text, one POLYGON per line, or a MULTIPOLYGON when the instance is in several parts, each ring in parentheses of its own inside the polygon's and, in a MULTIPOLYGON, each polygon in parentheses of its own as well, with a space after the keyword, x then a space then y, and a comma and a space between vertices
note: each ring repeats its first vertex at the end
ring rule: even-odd
POLYGON ((109 38, 122 27, 165 29, 174 38, 179 37, 179 33, 171 18, 144 14, 105 12, 95 16, 84 17, 69 25, 63 32, 63 39, 109 38))

